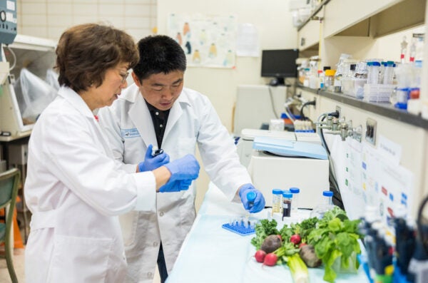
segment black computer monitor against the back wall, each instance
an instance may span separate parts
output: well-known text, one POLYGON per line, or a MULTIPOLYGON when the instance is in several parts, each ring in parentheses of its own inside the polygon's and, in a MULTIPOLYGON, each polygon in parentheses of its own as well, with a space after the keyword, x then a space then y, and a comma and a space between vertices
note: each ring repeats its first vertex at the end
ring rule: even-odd
POLYGON ((262 51, 262 77, 272 78, 271 85, 284 85, 284 78, 297 77, 298 49, 262 51))

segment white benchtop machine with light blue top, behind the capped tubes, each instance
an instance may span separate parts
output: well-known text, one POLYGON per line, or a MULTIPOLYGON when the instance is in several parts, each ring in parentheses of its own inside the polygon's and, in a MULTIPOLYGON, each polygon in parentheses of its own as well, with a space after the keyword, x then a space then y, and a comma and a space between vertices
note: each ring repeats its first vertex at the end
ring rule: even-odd
POLYGON ((329 161, 315 133, 243 130, 238 154, 253 184, 272 204, 272 189, 300 188, 299 207, 314 208, 329 190, 329 161))

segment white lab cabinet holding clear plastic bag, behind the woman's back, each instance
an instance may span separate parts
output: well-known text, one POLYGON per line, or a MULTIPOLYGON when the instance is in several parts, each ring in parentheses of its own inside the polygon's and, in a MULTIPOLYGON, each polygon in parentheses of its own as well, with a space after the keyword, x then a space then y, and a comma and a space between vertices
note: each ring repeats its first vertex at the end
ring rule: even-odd
POLYGON ((26 135, 41 111, 53 101, 56 91, 46 80, 54 73, 55 48, 54 41, 23 35, 16 35, 9 46, 1 45, 2 132, 14 137, 26 135))

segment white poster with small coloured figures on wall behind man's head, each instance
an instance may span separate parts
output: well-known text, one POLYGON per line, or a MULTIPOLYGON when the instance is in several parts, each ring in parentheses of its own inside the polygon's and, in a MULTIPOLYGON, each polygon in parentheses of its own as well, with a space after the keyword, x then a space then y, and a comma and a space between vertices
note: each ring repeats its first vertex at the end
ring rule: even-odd
POLYGON ((170 14, 168 36, 183 47, 188 66, 235 68, 235 16, 170 14))

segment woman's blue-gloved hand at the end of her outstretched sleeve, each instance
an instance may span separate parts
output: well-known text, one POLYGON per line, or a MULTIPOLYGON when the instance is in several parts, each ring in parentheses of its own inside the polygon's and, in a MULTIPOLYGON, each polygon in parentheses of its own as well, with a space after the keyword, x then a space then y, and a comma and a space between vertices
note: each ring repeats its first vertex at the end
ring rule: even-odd
POLYGON ((199 163, 193 155, 185 155, 165 165, 170 170, 170 180, 163 185, 159 192, 179 192, 188 190, 190 184, 199 175, 199 163))

